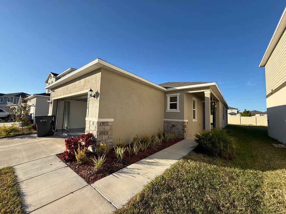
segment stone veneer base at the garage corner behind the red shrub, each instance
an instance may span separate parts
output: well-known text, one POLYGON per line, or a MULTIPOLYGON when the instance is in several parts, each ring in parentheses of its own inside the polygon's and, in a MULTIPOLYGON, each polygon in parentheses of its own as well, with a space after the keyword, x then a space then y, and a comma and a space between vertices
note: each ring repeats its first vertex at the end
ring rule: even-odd
POLYGON ((97 153, 100 142, 105 142, 105 145, 112 147, 113 121, 94 120, 86 118, 85 133, 92 133, 94 135, 95 144, 91 146, 90 150, 97 153))

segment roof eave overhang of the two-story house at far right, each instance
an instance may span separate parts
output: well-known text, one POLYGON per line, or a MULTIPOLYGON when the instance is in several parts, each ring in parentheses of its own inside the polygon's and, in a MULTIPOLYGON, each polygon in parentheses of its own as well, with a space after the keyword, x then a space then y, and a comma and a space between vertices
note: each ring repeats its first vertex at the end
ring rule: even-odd
POLYGON ((286 15, 285 15, 286 7, 282 13, 282 16, 278 22, 278 25, 274 31, 274 34, 270 40, 270 43, 268 44, 268 47, 264 53, 264 56, 259 64, 259 67, 264 67, 271 56, 274 48, 276 47, 277 43, 279 42, 283 32, 285 31, 286 28, 286 15))

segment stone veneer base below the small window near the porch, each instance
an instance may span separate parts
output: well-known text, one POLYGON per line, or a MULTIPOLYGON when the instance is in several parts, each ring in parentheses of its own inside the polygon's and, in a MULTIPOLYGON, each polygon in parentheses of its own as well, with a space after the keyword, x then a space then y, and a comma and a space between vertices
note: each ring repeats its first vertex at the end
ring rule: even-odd
POLYGON ((188 137, 188 121, 164 120, 164 131, 178 135, 180 138, 188 137))

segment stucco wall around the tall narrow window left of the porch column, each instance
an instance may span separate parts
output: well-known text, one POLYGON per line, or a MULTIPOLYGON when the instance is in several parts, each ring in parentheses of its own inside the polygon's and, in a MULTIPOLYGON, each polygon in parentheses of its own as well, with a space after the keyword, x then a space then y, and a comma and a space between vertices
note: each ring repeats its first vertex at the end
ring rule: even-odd
POLYGON ((203 130, 202 101, 202 98, 195 94, 184 94, 184 117, 188 120, 188 136, 192 136, 203 130), (193 121, 193 97, 197 99, 197 121, 193 121))

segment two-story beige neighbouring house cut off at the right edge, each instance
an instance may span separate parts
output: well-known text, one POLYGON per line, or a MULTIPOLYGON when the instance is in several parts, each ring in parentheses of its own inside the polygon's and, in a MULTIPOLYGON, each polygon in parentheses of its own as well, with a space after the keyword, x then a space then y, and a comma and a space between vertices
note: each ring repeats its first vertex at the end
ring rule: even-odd
POLYGON ((286 143, 286 15, 285 10, 259 67, 265 67, 269 136, 286 143))

